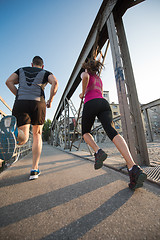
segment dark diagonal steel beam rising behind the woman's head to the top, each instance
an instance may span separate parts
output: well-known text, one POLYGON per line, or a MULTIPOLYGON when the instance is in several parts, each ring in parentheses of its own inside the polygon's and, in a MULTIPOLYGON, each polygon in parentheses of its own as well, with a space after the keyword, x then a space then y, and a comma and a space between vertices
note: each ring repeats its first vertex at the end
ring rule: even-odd
MULTIPOLYGON (((73 95, 74 91, 76 90, 76 88, 78 87, 78 85, 81 82, 81 78, 80 78, 80 74, 82 72, 82 68, 81 65, 82 63, 86 60, 87 57, 91 56, 91 52, 96 40, 96 34, 97 34, 97 29, 99 27, 99 21, 101 20, 101 27, 100 27, 100 33, 105 25, 106 20, 108 19, 109 15, 111 14, 111 12, 113 11, 114 7, 116 6, 118 0, 105 0, 103 1, 99 12, 96 16, 96 19, 92 25, 92 28, 89 32, 89 35, 85 41, 85 44, 82 48, 82 51, 79 55, 79 58, 75 64, 75 67, 71 73, 70 79, 66 85, 66 88, 63 92, 63 95, 61 97, 60 103, 58 105, 58 108, 56 110, 56 113, 54 115, 54 119, 53 119, 53 123, 55 122, 55 119, 58 119, 58 117, 60 116, 61 112, 64 109, 64 100, 67 98, 68 100, 71 98, 71 96, 73 95), (102 18, 102 19, 101 19, 102 18)), ((100 35, 100 38, 103 37, 103 44, 101 44, 101 48, 103 47, 103 45, 105 44, 108 35, 105 32, 105 35, 103 34, 100 35)), ((101 39, 100 39, 101 41, 101 39)), ((52 126, 53 127, 53 126, 52 126)))

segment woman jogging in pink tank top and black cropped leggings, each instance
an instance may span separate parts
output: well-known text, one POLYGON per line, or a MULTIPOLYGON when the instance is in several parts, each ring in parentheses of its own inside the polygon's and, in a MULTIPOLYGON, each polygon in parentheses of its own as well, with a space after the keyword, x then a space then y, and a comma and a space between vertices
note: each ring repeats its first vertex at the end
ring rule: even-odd
POLYGON ((103 161, 107 158, 107 154, 98 147, 90 134, 95 117, 97 117, 108 137, 124 157, 130 176, 129 187, 134 190, 143 186, 147 175, 135 164, 124 138, 112 126, 112 111, 108 101, 103 98, 103 84, 99 76, 101 67, 103 65, 94 59, 88 59, 82 65, 82 68, 85 69, 85 72, 81 74, 82 93, 79 95, 81 99, 84 98, 82 135, 85 142, 95 152, 94 168, 101 168, 103 161))

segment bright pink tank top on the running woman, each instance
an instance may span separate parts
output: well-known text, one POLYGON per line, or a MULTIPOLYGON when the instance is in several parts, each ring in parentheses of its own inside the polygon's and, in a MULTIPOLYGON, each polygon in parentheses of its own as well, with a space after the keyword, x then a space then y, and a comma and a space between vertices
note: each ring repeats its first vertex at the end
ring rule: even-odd
POLYGON ((85 93, 84 103, 94 99, 94 98, 103 98, 102 95, 102 80, 97 75, 89 74, 89 83, 85 93))

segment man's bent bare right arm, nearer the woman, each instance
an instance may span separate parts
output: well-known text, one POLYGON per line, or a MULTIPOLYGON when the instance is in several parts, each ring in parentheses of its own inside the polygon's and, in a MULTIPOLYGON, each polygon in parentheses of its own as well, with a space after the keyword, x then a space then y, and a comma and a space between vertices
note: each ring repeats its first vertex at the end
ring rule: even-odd
POLYGON ((46 103, 46 106, 47 108, 50 108, 51 107, 51 104, 52 104, 52 101, 53 101, 53 98, 58 90, 58 80, 56 79, 56 77, 51 74, 48 76, 48 82, 52 85, 51 86, 51 90, 50 90, 50 97, 46 103))

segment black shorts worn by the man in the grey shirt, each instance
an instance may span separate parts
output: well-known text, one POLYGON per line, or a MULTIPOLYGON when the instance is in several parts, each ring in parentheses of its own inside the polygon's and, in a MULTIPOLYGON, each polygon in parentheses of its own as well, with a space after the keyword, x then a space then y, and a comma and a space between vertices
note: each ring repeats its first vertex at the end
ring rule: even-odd
POLYGON ((16 117, 18 127, 25 124, 43 125, 46 116, 46 103, 35 100, 16 100, 12 115, 16 117))

